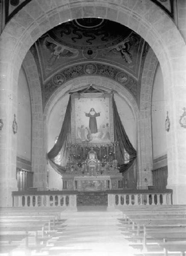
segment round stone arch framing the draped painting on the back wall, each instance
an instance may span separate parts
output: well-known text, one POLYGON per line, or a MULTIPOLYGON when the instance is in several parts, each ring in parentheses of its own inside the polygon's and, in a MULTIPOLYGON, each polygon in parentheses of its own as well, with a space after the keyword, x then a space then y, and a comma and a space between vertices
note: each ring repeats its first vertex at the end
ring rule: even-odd
MULTIPOLYGON (((139 108, 137 106, 137 102, 132 96, 131 93, 128 92, 128 90, 123 87, 121 84, 119 84, 116 81, 113 81, 106 77, 101 76, 84 76, 84 77, 77 77, 73 80, 67 81, 65 84, 63 84, 61 87, 59 87, 55 92, 50 96, 48 102, 46 103, 46 107, 44 109, 44 155, 46 155, 47 151, 47 144, 48 141, 47 137, 47 123, 49 115, 52 111, 52 108, 60 100, 64 95, 67 95, 70 91, 76 91, 76 89, 81 89, 87 87, 89 84, 95 84, 96 87, 102 89, 102 90, 108 90, 113 91, 117 95, 121 96, 122 99, 124 99, 129 107, 131 108, 131 111, 133 113, 134 119, 135 119, 135 130, 136 130, 136 145, 137 145, 137 162, 138 162, 138 169, 141 170, 141 151, 139 148, 139 108)), ((46 166, 46 163, 45 163, 46 166)), ((47 168, 47 166, 46 166, 47 168)))

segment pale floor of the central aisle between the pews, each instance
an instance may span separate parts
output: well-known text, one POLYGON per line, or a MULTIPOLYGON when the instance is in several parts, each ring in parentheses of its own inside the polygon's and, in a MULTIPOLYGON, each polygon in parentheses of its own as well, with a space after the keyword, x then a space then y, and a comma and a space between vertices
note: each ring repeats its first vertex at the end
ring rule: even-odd
MULTIPOLYGON (((122 212, 106 207, 79 207, 61 213, 58 226, 41 250, 31 255, 47 256, 133 256, 139 250, 129 246, 122 234, 122 212)), ((29 253, 28 253, 29 254, 29 253)))

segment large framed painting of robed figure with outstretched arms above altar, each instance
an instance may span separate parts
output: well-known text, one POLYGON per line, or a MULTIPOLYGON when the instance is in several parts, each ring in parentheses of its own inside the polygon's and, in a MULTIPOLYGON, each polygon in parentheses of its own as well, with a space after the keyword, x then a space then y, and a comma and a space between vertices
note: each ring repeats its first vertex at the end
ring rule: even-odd
POLYGON ((73 93, 72 143, 105 145, 114 141, 112 93, 73 93))

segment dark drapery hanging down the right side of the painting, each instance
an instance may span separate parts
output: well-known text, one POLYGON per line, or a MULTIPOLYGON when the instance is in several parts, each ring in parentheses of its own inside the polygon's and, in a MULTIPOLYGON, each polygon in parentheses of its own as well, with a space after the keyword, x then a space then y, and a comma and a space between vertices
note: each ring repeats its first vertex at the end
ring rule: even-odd
POLYGON ((118 147, 116 147, 116 159, 119 162, 120 172, 125 172, 133 163, 137 157, 136 150, 131 144, 128 136, 125 132, 125 129, 122 125, 122 121, 119 117, 119 113, 117 111, 116 102, 114 97, 112 98, 113 105, 113 127, 114 127, 114 139, 119 142, 118 147), (126 163, 125 159, 125 151, 129 154, 129 162, 126 163))

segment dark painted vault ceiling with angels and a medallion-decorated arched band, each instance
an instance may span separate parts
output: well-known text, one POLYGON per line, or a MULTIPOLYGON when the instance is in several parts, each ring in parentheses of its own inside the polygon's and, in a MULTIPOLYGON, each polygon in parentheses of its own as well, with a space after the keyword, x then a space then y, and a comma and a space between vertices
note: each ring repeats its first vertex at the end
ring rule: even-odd
MULTIPOLYGON (((133 30, 99 18, 62 23, 31 47, 41 75, 44 102, 76 76, 108 76, 137 99, 138 81, 148 44, 133 30)), ((44 103, 45 104, 45 103, 44 103)))

